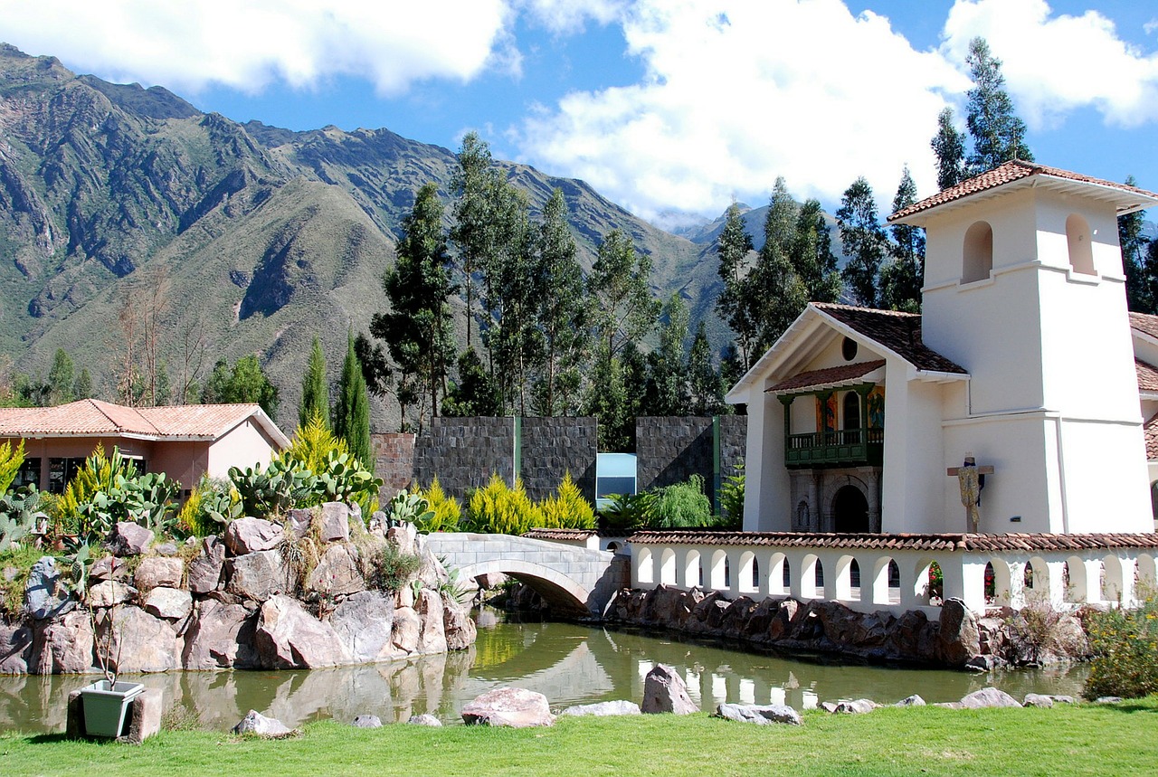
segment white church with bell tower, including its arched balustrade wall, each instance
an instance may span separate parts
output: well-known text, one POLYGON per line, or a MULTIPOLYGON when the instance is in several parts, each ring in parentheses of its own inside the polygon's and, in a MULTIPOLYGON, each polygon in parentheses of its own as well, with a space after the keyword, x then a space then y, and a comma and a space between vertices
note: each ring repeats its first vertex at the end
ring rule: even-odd
POLYGON ((1158 582, 1158 316, 1127 311, 1117 218, 1155 205, 1016 160, 891 215, 926 233, 922 313, 808 305, 727 395, 743 530, 637 533, 632 585, 1134 601, 1158 582))

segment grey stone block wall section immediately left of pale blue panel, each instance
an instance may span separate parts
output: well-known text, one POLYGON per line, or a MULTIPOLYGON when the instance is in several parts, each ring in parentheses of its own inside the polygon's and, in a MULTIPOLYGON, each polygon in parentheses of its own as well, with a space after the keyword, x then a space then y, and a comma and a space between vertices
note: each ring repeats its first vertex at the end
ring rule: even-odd
POLYGON ((594 504, 598 431, 594 418, 523 418, 520 475, 527 496, 549 497, 564 472, 571 472, 584 498, 594 504))

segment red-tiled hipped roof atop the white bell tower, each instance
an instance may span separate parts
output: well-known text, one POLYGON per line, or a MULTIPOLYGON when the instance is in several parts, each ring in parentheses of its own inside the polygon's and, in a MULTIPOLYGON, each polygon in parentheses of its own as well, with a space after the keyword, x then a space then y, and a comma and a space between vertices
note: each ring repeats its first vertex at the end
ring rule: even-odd
POLYGON ((888 221, 917 223, 923 221, 921 217, 925 212, 950 205, 967 197, 992 193, 997 189, 1002 189, 1004 192, 1031 185, 1046 185, 1060 190, 1080 189, 1086 195, 1093 195, 1099 199, 1114 203, 1119 215, 1158 205, 1158 195, 1145 189, 1127 186, 1122 183, 1114 183, 1113 181, 1104 181, 1101 178, 1092 178, 1087 175, 1046 167, 1045 164, 1011 160, 992 170, 987 170, 981 175, 939 191, 932 197, 926 197, 909 207, 901 208, 888 217, 888 221))

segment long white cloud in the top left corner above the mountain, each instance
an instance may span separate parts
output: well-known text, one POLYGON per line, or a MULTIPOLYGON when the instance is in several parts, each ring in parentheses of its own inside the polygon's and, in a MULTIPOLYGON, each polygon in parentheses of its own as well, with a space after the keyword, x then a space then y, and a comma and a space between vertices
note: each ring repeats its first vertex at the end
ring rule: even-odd
POLYGON ((354 74, 396 95, 416 80, 516 71, 511 17, 505 0, 0 0, 0 39, 186 91, 354 74))

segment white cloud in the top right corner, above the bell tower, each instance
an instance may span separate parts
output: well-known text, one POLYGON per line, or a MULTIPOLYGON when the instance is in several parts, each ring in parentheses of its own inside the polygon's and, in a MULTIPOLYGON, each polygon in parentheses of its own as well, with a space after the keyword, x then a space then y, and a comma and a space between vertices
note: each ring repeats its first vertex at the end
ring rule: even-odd
POLYGON ((943 52, 959 63, 973 37, 985 38, 1031 129, 1055 126, 1079 108, 1124 127, 1158 119, 1158 52, 1123 41, 1095 10, 1072 16, 1045 0, 958 0, 944 35, 943 52))

